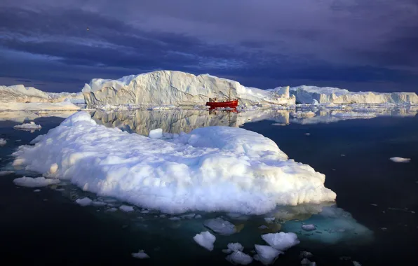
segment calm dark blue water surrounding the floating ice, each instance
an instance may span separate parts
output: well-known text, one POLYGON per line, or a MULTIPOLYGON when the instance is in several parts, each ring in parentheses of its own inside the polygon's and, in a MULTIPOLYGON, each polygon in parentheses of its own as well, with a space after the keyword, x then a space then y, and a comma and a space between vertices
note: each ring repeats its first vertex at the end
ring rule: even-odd
MULTIPOLYGON (((267 216, 252 217, 200 213, 201 219, 170 221, 170 216, 156 217, 161 214, 155 211, 126 214, 109 213, 104 207, 79 207, 74 203, 77 198, 97 196, 70 184, 34 193, 34 188, 15 186, 13 179, 37 175, 16 172, 0 177, 0 260, 4 265, 10 261, 13 265, 229 265, 222 253, 229 242, 239 241, 245 253, 251 253, 254 244, 264 244, 260 235, 283 230, 296 232, 301 243, 275 265, 300 265, 301 251, 313 253, 310 260, 317 265, 353 265, 353 260, 362 265, 418 265, 414 252, 418 246, 414 213, 418 211, 418 117, 405 110, 371 119, 321 115, 293 118, 288 111, 275 110, 93 112, 98 123, 138 134, 159 127, 178 133, 210 125, 258 132, 276 141, 290 158, 325 174, 325 186, 337 193, 337 205, 282 207, 267 216), (411 158, 411 162, 391 162, 394 156, 411 158), (215 250, 209 252, 192 237, 205 230, 205 219, 219 216, 234 223, 238 232, 217 236, 215 250), (263 219, 272 216, 276 217, 273 224, 263 219), (313 223, 317 229, 303 231, 302 223, 313 223), (269 228, 260 230, 260 225, 269 228), (139 249, 151 259, 132 258, 130 253, 139 249)), ((46 134, 63 119, 1 113, 0 137, 8 143, 0 147, 0 168, 11 169, 15 148, 46 134), (13 130, 25 118, 42 129, 33 133, 13 130)))

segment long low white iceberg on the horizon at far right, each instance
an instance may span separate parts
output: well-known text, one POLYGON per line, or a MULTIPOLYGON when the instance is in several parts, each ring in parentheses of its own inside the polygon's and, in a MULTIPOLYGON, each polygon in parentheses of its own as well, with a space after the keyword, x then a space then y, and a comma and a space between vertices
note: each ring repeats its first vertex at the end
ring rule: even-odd
MULTIPOLYGON (((268 90, 281 91, 282 87, 268 90)), ((350 92, 337 87, 297 86, 290 87, 299 104, 418 104, 414 92, 350 92)))

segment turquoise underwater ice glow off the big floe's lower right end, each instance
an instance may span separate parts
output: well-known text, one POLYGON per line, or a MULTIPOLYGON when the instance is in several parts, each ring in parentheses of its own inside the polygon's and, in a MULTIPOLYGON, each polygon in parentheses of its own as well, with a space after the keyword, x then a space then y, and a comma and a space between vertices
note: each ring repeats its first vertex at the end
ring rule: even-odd
POLYGON ((323 207, 319 214, 314 214, 304 221, 288 221, 282 225, 284 232, 295 232, 302 243, 315 241, 325 244, 364 244, 373 240, 373 232, 358 223, 349 212, 336 206, 323 207), (306 232, 303 224, 314 224, 316 230, 306 232))

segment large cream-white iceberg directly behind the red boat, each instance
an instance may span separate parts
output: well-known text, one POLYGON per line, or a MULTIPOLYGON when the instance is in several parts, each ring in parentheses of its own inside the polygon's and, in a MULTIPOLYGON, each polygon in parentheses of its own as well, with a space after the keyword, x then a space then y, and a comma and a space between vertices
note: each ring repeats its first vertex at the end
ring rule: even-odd
POLYGON ((104 104, 205 104, 209 98, 239 99, 240 104, 295 104, 288 89, 269 92, 208 74, 154 71, 109 80, 93 78, 82 90, 89 106, 104 104))

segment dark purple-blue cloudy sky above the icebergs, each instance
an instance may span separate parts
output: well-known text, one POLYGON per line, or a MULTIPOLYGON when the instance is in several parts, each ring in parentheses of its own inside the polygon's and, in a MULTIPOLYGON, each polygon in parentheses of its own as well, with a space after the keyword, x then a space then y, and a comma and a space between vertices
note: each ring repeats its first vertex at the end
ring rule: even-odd
POLYGON ((418 92, 417 0, 0 0, 0 85, 178 70, 418 92))

